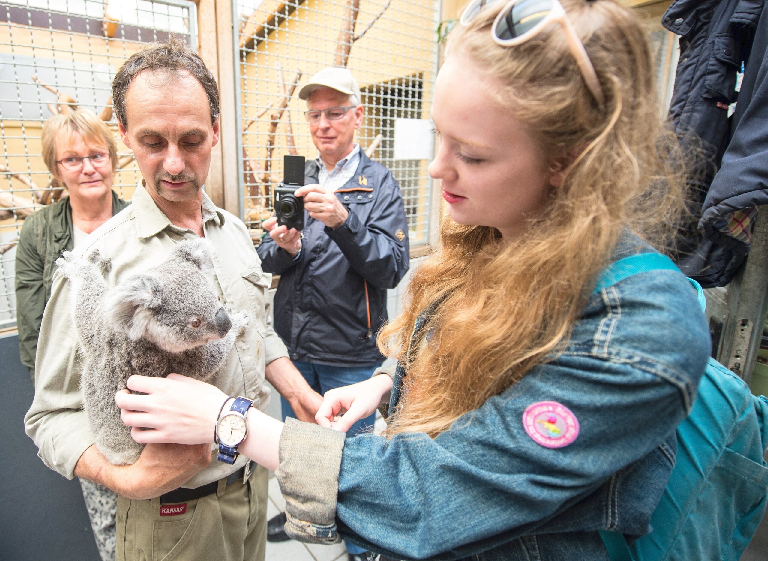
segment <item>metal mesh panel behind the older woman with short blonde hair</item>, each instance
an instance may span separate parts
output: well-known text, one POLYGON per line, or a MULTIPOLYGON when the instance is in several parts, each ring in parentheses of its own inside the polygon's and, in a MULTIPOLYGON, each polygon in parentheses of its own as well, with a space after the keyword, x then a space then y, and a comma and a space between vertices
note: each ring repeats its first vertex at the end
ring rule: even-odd
POLYGON ((0 327, 15 323, 15 241, 24 219, 62 193, 41 155, 43 122, 72 107, 108 121, 120 155, 113 188, 130 199, 140 177, 112 115, 112 78, 147 42, 177 35, 197 48, 196 18, 184 0, 0 2, 0 327))

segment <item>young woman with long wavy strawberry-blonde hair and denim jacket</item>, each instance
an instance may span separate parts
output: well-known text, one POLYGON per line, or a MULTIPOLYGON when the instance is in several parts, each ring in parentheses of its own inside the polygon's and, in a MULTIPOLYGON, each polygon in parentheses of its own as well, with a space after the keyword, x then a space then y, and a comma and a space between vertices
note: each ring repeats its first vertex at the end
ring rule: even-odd
POLYGON ((292 536, 396 559, 594 561, 598 530, 650 530, 707 324, 677 271, 595 288, 664 243, 683 170, 637 16, 562 7, 475 4, 452 32, 429 167, 450 218, 379 339, 392 376, 326 393, 321 427, 175 374, 132 377, 147 395, 117 400, 137 441, 210 442, 215 427, 220 457, 276 470, 292 536), (383 403, 383 436, 332 430, 383 403))

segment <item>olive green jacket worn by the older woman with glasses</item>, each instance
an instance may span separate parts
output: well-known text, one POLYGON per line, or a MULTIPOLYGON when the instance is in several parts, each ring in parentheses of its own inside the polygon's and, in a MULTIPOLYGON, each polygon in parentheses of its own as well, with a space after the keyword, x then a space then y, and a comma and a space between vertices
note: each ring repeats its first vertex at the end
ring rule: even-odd
MULTIPOLYGON (((112 215, 129 202, 112 191, 112 215)), ((69 198, 32 214, 24 221, 16 249, 16 325, 22 363, 35 378, 35 354, 43 310, 51 297, 56 260, 62 251, 72 251, 72 207, 69 198)))

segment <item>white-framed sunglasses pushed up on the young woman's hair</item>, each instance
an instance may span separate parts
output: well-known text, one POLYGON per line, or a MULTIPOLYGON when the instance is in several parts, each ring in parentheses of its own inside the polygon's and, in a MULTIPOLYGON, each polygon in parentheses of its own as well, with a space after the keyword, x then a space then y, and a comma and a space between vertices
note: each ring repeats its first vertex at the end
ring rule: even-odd
MULTIPOLYGON (((472 22, 485 6, 500 1, 473 0, 462 13, 462 25, 472 22)), ((598 73, 594 71, 594 65, 589 59, 584 43, 578 37, 576 29, 558 0, 510 0, 502 11, 498 12, 491 28, 491 36, 497 45, 514 47, 538 35, 542 29, 552 23, 558 23, 563 28, 568 48, 576 59, 584 82, 598 103, 604 105, 605 95, 598 80, 598 73)))

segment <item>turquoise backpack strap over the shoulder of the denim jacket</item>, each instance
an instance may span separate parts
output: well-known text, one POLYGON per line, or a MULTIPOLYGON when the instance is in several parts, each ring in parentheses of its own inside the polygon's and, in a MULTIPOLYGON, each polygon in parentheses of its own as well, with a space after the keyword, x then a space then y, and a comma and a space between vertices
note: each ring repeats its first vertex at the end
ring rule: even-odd
MULTIPOLYGON (((598 278, 598 284, 594 287, 594 294, 634 274, 650 271, 680 271, 680 269, 677 268, 677 265, 669 257, 662 254, 646 253, 624 257, 624 259, 614 261, 614 263, 604 268, 598 278)), ((699 305, 702 310, 706 309, 707 300, 704 298, 704 291, 701 289, 700 284, 693 279, 688 280, 696 288, 699 305)), ((600 539, 603 540, 605 549, 608 552, 608 558, 611 561, 632 561, 632 554, 623 533, 604 529, 598 530, 598 533, 600 534, 600 539)))

